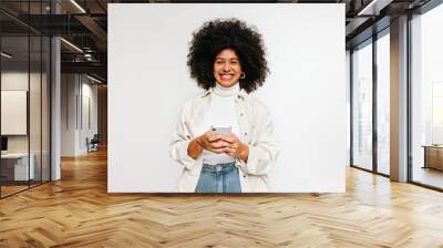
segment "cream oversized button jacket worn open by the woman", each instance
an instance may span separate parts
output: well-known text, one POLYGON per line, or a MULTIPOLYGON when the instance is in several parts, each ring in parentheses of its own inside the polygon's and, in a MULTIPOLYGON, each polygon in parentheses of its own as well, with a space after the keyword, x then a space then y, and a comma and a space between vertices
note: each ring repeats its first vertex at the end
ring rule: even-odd
MULTIPOLYGON (((202 155, 193 159, 187 154, 189 142, 200 134, 196 127, 203 122, 208 110, 213 90, 186 102, 169 145, 171 157, 183 165, 178 190, 194 193, 200 175, 202 155)), ((248 161, 237 158, 241 192, 269 192, 267 174, 276 164, 278 147, 274 140, 274 127, 268 108, 256 97, 240 90, 236 97, 237 118, 243 143, 249 146, 248 161)))

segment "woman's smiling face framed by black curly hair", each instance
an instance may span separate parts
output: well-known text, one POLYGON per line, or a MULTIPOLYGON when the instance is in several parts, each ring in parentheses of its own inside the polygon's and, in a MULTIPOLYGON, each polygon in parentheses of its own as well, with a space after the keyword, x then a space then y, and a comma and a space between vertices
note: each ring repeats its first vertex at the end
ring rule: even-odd
POLYGON ((218 84, 230 87, 238 83, 241 75, 240 60, 233 49, 224 49, 214 61, 214 76, 218 84))

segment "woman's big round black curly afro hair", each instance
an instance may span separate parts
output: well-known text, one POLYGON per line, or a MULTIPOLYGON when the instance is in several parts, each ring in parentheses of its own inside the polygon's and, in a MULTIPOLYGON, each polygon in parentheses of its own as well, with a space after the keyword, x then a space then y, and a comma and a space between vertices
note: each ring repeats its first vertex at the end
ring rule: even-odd
POLYGON ((269 72, 261 34, 237 19, 215 19, 205 22, 194 32, 187 54, 190 78, 205 90, 215 86, 213 72, 216 55, 224 49, 233 49, 246 78, 240 87, 250 93, 261 86, 269 72))

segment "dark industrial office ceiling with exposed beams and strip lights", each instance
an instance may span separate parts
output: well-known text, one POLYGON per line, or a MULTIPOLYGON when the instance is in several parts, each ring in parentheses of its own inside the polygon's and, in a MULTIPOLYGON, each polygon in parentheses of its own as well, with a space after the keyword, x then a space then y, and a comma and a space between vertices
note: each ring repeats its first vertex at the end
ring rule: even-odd
MULTIPOLYGON (((1 0, 0 27, 4 37, 19 37, 28 31, 61 35, 62 72, 94 74, 106 79, 106 32, 107 3, 153 3, 153 2, 260 2, 260 3, 346 3, 347 48, 364 41, 378 31, 389 27, 391 18, 413 11, 431 0, 52 0, 22 1, 1 0), (54 12, 58 14, 53 14, 54 12), (30 14, 29 14, 30 13, 30 14), (373 23, 378 22, 377 25, 373 23), (375 28, 374 28, 375 27, 375 28)), ((9 38, 9 40, 12 38, 9 38)), ((10 45, 13 45, 11 42, 10 45)), ((20 45, 17 42, 17 45, 20 45)))

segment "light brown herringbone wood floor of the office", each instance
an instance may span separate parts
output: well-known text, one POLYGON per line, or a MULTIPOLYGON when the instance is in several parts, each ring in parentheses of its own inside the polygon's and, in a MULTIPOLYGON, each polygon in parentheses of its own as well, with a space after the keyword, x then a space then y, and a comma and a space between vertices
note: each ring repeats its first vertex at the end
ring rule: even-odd
POLYGON ((109 195, 106 153, 0 200, 0 247, 443 247, 443 194, 349 168, 346 194, 109 195))

